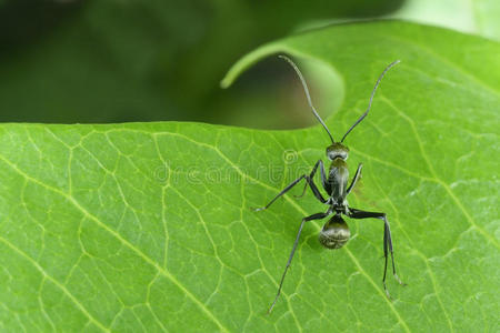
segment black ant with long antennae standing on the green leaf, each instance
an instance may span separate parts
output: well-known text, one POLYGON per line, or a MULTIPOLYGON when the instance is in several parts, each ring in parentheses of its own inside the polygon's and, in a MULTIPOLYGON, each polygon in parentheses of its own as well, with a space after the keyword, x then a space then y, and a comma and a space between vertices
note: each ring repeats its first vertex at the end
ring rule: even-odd
POLYGON ((299 243, 300 233, 302 232, 302 228, 307 221, 312 220, 322 220, 327 216, 330 216, 330 220, 328 220, 327 223, 324 223, 320 234, 319 234, 319 242, 321 245, 323 245, 327 249, 340 249, 342 248, 350 238, 350 231, 349 226, 346 223, 346 221, 342 219, 342 214, 346 216, 349 216, 351 219, 379 219, 383 221, 383 256, 386 259, 384 266, 383 266, 383 278, 382 278, 382 284, 383 290, 386 291, 387 296, 390 299, 389 291, 387 290, 386 285, 386 278, 387 278, 387 265, 388 265, 388 256, 390 254, 391 256, 391 263, 392 263, 392 275, 394 279, 399 282, 399 284, 404 285, 404 283, 401 282, 401 280, 398 278, 398 274, 396 273, 396 265, 394 265, 394 256, 393 256, 393 248, 392 248, 392 236, 391 236, 391 230, 389 228, 389 221, 387 220, 386 213, 378 213, 378 212, 368 212, 358 210, 354 208, 350 208, 346 198, 347 195, 352 191, 352 189, 356 185, 356 182, 359 180, 361 175, 361 168, 362 164, 360 163, 358 165, 358 169, 356 170, 354 176, 352 178, 351 183, 348 185, 349 181, 349 170, 348 165, 346 163, 346 160, 349 157, 349 148, 343 144, 343 141, 346 140, 346 137, 358 125, 364 117, 367 117, 368 112, 370 111, 371 103, 373 101, 373 95, 377 90, 377 87, 379 85, 380 81, 382 80, 386 72, 392 68, 393 65, 398 64, 400 61, 397 60, 392 63, 390 63, 383 72, 380 74, 379 79, 377 80, 377 83, 371 92, 370 101, 368 103, 367 111, 349 128, 349 130, 343 134, 342 139, 339 142, 336 142, 333 140, 333 137, 331 135, 328 127, 324 124, 321 117, 316 111, 314 107, 312 105, 311 97, 309 94, 309 89, 306 83, 306 80, 303 79, 302 73, 300 72, 299 68, 293 63, 293 61, 284 56, 279 56, 279 58, 284 59, 297 72, 300 81, 302 82, 303 90, 306 92, 306 97, 308 100, 308 104, 312 110, 312 113, 318 119, 318 121, 321 123, 321 125, 327 131, 328 135, 331 140, 331 145, 327 147, 327 158, 331 161, 330 169, 328 171, 328 174, 324 170, 324 164, 322 160, 318 160, 318 162, 312 168, 312 171, 310 174, 302 174, 294 181, 292 181, 288 186, 286 186, 278 195, 274 196, 274 199, 271 200, 266 206, 256 209, 256 211, 262 211, 267 210, 278 198, 290 191, 294 185, 297 185, 300 181, 306 180, 306 184, 302 191, 302 194, 299 196, 302 196, 308 185, 311 188, 312 193, 314 194, 316 199, 318 199, 321 203, 324 203, 328 205, 328 209, 326 212, 320 212, 312 214, 310 216, 306 216, 302 219, 302 222, 299 226, 299 232, 297 233, 296 241, 293 243, 293 248, 290 252, 290 256, 288 259, 287 265, 284 268, 283 275, 281 276, 280 285, 278 287, 278 293, 274 297, 274 301, 272 302, 271 306, 269 307, 268 313, 271 313, 272 309, 276 305, 276 302, 278 301, 278 297, 281 293, 281 287, 283 285, 284 276, 287 275, 287 271, 290 266, 290 263, 293 259, 293 254, 296 253, 297 244, 299 243), (321 186, 323 190, 328 193, 328 198, 324 199, 321 194, 320 190, 316 185, 313 179, 316 175, 317 170, 320 170, 320 176, 321 176, 321 186))

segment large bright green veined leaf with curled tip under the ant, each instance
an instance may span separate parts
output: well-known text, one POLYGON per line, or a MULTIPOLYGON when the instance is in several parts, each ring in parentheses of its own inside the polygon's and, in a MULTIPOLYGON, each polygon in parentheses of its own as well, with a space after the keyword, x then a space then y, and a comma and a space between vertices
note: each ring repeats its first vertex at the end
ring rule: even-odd
POLYGON ((224 84, 276 52, 341 75, 327 120, 337 139, 401 60, 346 143, 351 173, 364 164, 350 205, 388 214, 408 286, 389 274, 384 295, 380 221, 349 220, 336 251, 311 222, 266 315, 301 218, 326 206, 308 192, 250 208, 324 159, 320 127, 2 124, 2 331, 499 330, 499 44, 403 22, 338 26, 258 49, 224 84))

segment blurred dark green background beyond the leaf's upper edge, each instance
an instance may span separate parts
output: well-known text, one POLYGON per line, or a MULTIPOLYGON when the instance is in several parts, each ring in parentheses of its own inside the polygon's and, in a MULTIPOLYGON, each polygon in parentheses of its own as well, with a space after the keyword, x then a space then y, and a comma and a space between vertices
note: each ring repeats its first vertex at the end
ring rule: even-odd
MULTIPOLYGON (((264 42, 361 19, 407 19, 498 39, 499 2, 0 0, 0 121, 306 127, 313 118, 281 60, 262 61, 228 90, 220 80, 264 42)), ((318 64, 301 67, 321 113, 338 109, 340 78, 318 64)))

